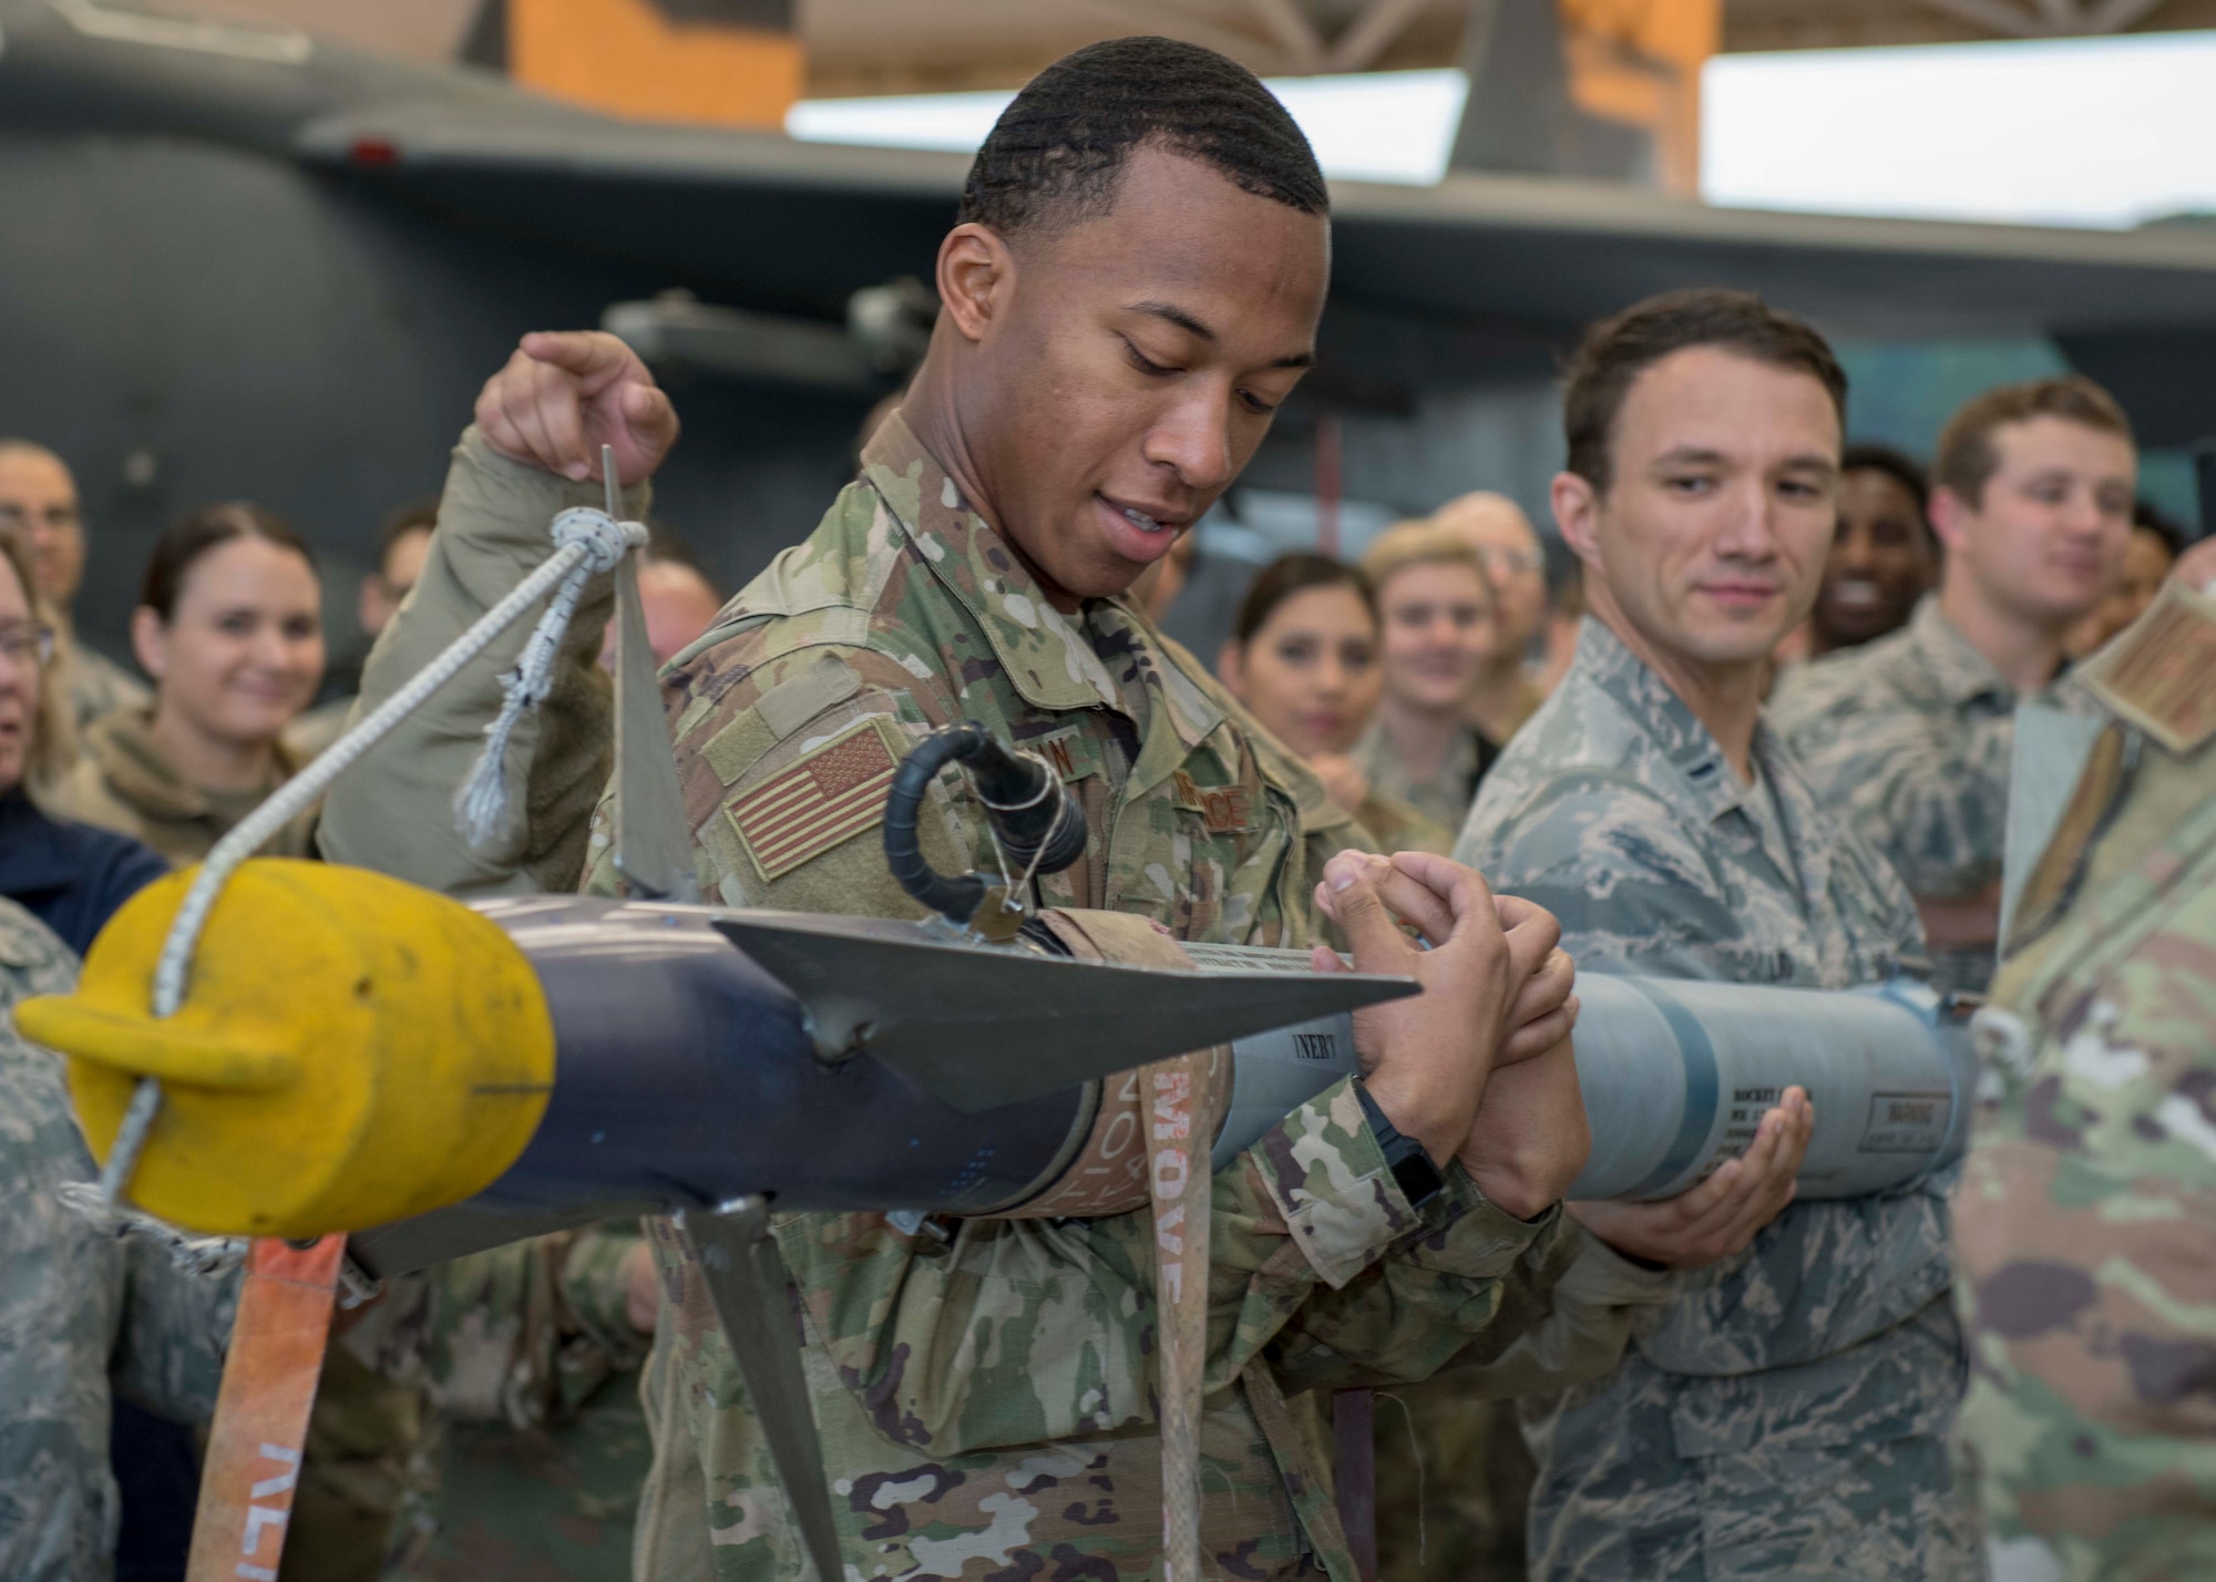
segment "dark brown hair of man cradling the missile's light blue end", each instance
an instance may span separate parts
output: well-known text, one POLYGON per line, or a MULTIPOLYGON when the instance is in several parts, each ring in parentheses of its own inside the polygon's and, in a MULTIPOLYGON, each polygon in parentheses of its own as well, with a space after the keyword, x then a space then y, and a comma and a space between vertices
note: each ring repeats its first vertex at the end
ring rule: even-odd
POLYGON ((1824 386, 1846 428, 1846 370, 1806 319, 1779 312, 1751 290, 1671 290, 1584 332, 1562 392, 1564 468, 1607 494, 1615 414, 1624 410, 1633 381, 1664 357, 1695 346, 1808 374, 1824 386))

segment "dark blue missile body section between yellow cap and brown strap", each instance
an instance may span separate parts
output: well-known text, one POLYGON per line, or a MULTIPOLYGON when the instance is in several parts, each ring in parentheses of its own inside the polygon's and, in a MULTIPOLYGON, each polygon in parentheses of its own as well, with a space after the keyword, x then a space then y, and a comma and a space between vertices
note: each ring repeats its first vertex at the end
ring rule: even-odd
POLYGON ((800 999, 705 906, 565 895, 490 902, 554 1019, 554 1092, 476 1199, 507 1214, 594 1201, 984 1214, 1028 1196, 1097 1095, 962 1110, 893 1061, 820 1059, 800 999))

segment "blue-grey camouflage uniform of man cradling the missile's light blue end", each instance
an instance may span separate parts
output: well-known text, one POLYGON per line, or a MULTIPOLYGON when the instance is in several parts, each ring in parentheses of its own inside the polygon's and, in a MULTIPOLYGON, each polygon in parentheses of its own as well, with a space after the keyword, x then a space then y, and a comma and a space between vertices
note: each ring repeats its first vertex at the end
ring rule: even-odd
MULTIPOLYGON (((1755 764, 1786 851, 1709 729, 1589 618, 1456 855, 1551 908, 1589 973, 1846 988, 1919 955, 1899 880, 1766 727, 1755 764)), ((1533 1575, 1968 1571, 1943 1192, 1786 1208, 1746 1254, 1678 1276, 1611 1376, 1527 1403, 1533 1575)))

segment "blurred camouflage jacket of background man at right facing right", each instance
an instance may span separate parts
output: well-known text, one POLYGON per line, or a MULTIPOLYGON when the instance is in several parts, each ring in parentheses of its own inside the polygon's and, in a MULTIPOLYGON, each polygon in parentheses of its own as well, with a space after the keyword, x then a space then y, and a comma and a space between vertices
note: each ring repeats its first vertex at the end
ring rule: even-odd
MULTIPOLYGON (((1926 594, 1899 631, 1824 654, 1777 678, 1771 727, 1817 798, 1877 846, 1919 900, 1977 895, 2001 880, 2008 764, 2019 698, 1926 594)), ((1932 955, 1937 988, 1986 993, 1992 948, 1932 955)))

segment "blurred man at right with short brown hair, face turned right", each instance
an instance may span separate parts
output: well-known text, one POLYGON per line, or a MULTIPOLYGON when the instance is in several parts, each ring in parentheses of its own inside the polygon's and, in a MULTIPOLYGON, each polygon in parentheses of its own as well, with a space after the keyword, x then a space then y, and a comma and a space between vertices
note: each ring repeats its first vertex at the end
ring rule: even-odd
POLYGON ((1923 913, 1939 988, 1983 993, 2017 705, 2081 707, 2063 638, 2123 567, 2136 456, 2090 379, 1988 390, 1939 436, 1939 592, 1888 638, 1786 671, 1771 720, 1923 913))

